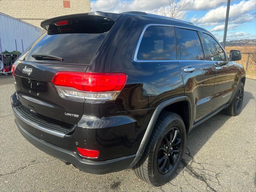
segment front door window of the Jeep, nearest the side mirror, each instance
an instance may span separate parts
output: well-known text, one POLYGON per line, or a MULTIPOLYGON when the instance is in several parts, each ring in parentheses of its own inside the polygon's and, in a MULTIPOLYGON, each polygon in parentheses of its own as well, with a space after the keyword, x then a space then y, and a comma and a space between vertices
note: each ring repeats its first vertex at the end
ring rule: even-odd
POLYGON ((214 38, 210 35, 203 33, 202 35, 205 45, 205 57, 208 61, 224 61, 225 54, 214 38))

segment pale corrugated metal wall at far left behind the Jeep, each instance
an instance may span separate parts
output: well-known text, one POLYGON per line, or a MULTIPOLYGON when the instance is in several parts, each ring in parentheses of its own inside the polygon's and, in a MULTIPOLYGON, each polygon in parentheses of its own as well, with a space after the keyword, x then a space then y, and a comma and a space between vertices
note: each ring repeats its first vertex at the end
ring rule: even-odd
POLYGON ((0 38, 2 51, 8 50, 9 52, 12 52, 13 50, 16 50, 16 39, 17 50, 22 52, 22 41, 23 48, 26 50, 26 48, 38 39, 41 34, 40 28, 0 13, 0 38))

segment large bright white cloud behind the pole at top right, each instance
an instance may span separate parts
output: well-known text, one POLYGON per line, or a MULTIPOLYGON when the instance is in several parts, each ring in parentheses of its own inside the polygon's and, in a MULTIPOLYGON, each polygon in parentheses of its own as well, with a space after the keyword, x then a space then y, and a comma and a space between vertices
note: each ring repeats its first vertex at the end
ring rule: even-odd
MULTIPOLYGON (((236 23, 244 22, 244 20, 248 18, 248 15, 250 15, 249 12, 255 10, 255 7, 255 0, 242 0, 238 4, 233 4, 232 6, 230 6, 229 21, 234 21, 236 23)), ((224 22, 225 18, 226 6, 220 6, 216 9, 210 10, 202 18, 193 18, 191 21, 198 24, 210 26, 211 23, 224 22)), ((250 15, 250 19, 252 20, 253 18, 254 16, 250 15)))

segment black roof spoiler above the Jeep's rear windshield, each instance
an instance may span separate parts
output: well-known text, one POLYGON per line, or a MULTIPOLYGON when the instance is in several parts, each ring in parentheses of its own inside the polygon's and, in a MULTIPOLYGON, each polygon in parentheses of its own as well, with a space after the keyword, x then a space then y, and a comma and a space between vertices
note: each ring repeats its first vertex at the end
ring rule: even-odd
POLYGON ((108 20, 111 22, 116 22, 118 20, 118 18, 121 16, 122 14, 117 14, 117 13, 107 13, 107 12, 90 12, 90 13, 80 13, 80 14, 72 14, 72 15, 64 15, 64 16, 60 16, 60 17, 54 17, 51 19, 47 19, 41 22, 41 27, 44 28, 45 30, 48 31, 50 26, 56 26, 58 24, 58 22, 62 22, 62 21, 72 21, 72 20, 76 20, 76 19, 81 19, 81 18, 88 18, 88 19, 97 19, 97 20, 108 20))

